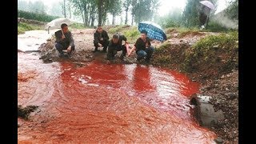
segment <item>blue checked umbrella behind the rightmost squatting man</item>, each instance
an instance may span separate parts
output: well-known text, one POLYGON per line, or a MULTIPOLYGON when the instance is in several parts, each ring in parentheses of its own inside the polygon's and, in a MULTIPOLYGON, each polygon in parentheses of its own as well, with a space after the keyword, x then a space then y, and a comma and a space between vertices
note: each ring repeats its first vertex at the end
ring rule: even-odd
POLYGON ((147 37, 151 39, 155 39, 163 42, 166 40, 166 34, 163 32, 161 26, 153 22, 140 22, 138 24, 138 30, 142 32, 142 30, 147 31, 147 37))

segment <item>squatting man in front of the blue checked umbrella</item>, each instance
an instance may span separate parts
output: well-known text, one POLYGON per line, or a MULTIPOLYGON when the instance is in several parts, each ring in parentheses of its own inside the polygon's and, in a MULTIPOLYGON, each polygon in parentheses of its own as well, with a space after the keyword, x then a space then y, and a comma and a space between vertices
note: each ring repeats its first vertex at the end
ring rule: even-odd
MULTIPOLYGON (((138 38, 134 47, 130 50, 130 54, 136 50, 136 54, 138 55, 138 62, 140 62, 143 58, 145 58, 146 62, 150 62, 150 58, 154 52, 154 47, 151 46, 150 38, 146 37, 147 31, 142 30, 141 38, 138 38)), ((128 54, 128 56, 130 56, 128 54)))

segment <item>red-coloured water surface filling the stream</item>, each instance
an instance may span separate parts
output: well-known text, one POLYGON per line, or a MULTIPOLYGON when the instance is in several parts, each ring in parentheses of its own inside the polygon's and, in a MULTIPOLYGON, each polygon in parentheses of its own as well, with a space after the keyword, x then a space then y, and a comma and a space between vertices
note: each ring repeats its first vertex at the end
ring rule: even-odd
POLYGON ((18 119, 18 143, 214 143, 194 121, 190 96, 199 85, 184 74, 38 61, 18 54, 18 104, 39 106, 29 121, 18 119))

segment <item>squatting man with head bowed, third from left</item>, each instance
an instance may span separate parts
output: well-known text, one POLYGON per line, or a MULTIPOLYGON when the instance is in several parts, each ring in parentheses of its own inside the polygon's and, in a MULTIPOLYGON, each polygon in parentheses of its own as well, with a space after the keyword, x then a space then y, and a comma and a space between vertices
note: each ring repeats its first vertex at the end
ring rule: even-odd
POLYGON ((127 42, 127 38, 124 35, 121 35, 118 33, 114 34, 113 38, 110 40, 109 49, 107 50, 107 54, 106 54, 107 59, 113 60, 114 55, 117 54, 117 52, 120 50, 122 50, 122 54, 120 58, 123 59, 127 53, 126 44, 128 44, 128 42, 127 42), (122 41, 125 41, 124 45, 122 45, 122 41))

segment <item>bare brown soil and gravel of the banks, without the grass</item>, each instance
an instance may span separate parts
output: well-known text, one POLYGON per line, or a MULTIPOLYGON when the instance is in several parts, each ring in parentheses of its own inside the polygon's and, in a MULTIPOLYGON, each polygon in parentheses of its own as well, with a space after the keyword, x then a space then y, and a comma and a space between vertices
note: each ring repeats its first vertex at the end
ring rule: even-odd
MULTIPOLYGON (((106 61, 106 54, 98 52, 96 54, 91 51, 93 46, 94 29, 72 30, 74 36, 75 51, 70 57, 70 61, 74 61, 78 66, 86 65, 83 62, 90 62, 95 58, 106 61)), ((217 34, 210 32, 186 33, 180 35, 177 30, 167 32, 169 38, 166 42, 169 43, 170 49, 168 54, 171 54, 170 63, 156 63, 155 58, 160 58, 162 55, 154 54, 150 64, 160 67, 168 67, 172 70, 180 70, 180 63, 184 61, 185 50, 194 45, 200 38, 206 35, 217 34)), ((161 42, 152 42, 153 46, 160 46, 161 42)), ((40 47, 41 58, 43 62, 60 61, 58 52, 54 49, 54 38, 43 44, 40 47)), ((117 54, 118 55, 118 54, 117 54)), ((117 56, 118 57, 118 56, 117 56)), ((135 54, 127 58, 125 62, 133 63, 135 54)), ((118 58, 114 62, 122 62, 118 58)), ((222 138, 224 143, 238 143, 238 68, 232 70, 220 71, 218 66, 208 70, 207 64, 201 66, 202 69, 194 70, 191 73, 186 73, 194 82, 200 82, 200 94, 211 96, 211 103, 216 110, 222 110, 225 116, 223 121, 220 121, 216 126, 211 127, 218 137, 222 138)))

